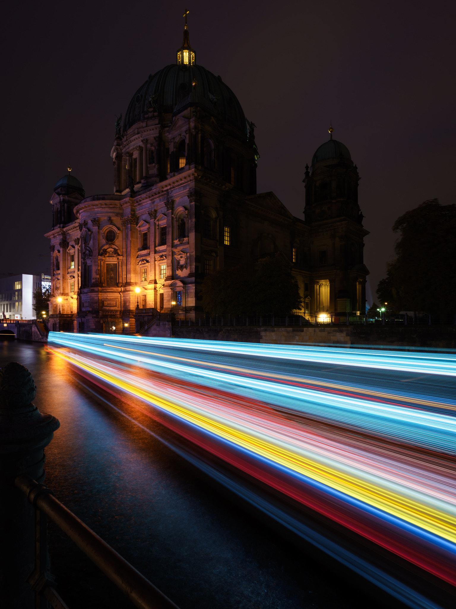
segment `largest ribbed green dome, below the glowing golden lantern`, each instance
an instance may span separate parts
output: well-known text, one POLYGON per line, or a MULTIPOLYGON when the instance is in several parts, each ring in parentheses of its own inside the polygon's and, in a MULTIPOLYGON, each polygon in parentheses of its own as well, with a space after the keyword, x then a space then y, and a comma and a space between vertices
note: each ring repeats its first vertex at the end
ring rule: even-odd
POLYGON ((243 109, 220 76, 199 65, 165 66, 136 91, 126 111, 126 132, 153 109, 159 113, 181 113, 188 107, 203 108, 247 133, 243 109))

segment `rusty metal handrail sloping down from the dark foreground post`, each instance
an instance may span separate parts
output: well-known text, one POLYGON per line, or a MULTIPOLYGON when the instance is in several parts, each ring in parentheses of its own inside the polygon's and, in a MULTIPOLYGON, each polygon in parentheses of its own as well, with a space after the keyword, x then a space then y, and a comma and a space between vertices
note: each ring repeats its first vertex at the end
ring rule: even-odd
MULTIPOLYGON (((44 484, 38 484, 30 476, 22 475, 16 477, 15 485, 27 496, 28 501, 35 508, 35 523, 37 519, 38 523, 40 522, 42 515, 46 515, 54 521, 78 548, 109 577, 111 582, 128 596, 136 607, 178 609, 177 605, 174 605, 153 583, 142 576, 125 558, 117 554, 101 537, 98 537, 74 513, 61 504, 44 484)), ((43 547, 40 547, 40 538, 46 540, 46 534, 43 535, 43 524, 35 526, 35 569, 29 577, 29 583, 36 595, 46 596, 52 607, 61 609, 66 605, 55 592, 52 579, 46 577, 49 574, 45 571, 46 566, 42 564, 43 561, 40 563, 40 556, 43 554, 46 556, 46 549, 43 552, 43 547)))

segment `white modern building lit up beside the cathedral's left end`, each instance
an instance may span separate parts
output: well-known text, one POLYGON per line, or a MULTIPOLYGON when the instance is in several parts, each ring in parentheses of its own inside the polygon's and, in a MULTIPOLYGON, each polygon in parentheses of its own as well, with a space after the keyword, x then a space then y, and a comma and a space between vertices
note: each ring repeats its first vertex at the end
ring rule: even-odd
MULTIPOLYGON (((36 319, 33 292, 44 275, 0 275, 0 312, 7 319, 36 319)), ((43 286, 45 287, 45 286, 43 286)))

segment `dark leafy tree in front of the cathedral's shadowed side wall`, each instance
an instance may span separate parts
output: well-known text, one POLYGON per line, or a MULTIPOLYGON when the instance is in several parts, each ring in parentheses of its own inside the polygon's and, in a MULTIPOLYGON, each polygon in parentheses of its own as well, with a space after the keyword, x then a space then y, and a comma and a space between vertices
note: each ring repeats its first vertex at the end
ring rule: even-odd
POLYGON ((302 298, 291 264, 277 253, 258 260, 253 275, 241 265, 207 275, 202 304, 212 315, 286 315, 301 308, 302 298))

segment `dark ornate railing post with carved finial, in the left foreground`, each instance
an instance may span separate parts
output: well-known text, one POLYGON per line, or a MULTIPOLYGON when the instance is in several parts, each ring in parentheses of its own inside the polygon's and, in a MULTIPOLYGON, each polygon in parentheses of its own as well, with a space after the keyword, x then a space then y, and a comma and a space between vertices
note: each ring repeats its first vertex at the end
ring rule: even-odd
POLYGON ((33 406, 36 387, 27 368, 11 362, 0 370, 0 606, 34 609, 27 578, 33 571, 33 507, 15 487, 27 474, 44 481, 44 448, 59 421, 33 406))

